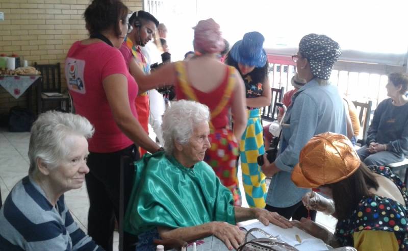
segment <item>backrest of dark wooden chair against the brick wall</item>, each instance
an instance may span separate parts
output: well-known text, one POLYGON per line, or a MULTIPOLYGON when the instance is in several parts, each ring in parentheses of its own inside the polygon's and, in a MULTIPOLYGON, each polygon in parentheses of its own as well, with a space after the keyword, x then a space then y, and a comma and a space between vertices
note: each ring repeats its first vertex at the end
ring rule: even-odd
POLYGON ((61 92, 61 65, 56 64, 37 64, 34 67, 41 71, 42 92, 61 92))

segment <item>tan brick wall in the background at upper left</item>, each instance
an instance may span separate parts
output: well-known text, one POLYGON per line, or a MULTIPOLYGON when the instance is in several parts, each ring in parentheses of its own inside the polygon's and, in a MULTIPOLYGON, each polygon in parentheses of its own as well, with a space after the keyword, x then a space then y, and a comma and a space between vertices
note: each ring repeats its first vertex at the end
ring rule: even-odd
MULTIPOLYGON (((60 62, 66 88, 64 59, 71 44, 87 37, 82 17, 89 0, 0 0, 0 54, 19 55, 39 64, 60 62)), ((123 1, 132 11, 141 10, 143 0, 123 1)), ((27 93, 18 99, 0 86, 0 114, 10 107, 26 107, 27 93)))

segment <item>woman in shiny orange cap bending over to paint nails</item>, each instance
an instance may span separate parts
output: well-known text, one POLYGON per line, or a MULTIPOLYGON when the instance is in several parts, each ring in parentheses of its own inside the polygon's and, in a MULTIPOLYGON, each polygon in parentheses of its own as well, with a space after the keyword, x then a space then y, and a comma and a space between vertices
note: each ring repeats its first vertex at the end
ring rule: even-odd
MULTIPOLYGON (((295 221, 297 227, 333 247, 408 248, 405 185, 388 167, 367 167, 345 136, 327 132, 313 137, 301 150, 291 178, 298 187, 319 188, 333 198, 335 212, 331 213, 338 219, 334 234, 305 218, 295 221)), ((303 203, 309 209, 327 211, 327 200, 316 197, 305 195, 303 203)))

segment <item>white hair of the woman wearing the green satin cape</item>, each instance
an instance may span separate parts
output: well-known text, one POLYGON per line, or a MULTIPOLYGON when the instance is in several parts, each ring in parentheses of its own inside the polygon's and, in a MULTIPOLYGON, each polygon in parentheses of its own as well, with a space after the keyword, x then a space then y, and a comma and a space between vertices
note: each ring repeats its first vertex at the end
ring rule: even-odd
POLYGON ((201 122, 208 122, 210 111, 206 105, 181 100, 172 102, 163 116, 162 131, 164 148, 169 155, 173 154, 174 143, 187 144, 194 127, 201 122))

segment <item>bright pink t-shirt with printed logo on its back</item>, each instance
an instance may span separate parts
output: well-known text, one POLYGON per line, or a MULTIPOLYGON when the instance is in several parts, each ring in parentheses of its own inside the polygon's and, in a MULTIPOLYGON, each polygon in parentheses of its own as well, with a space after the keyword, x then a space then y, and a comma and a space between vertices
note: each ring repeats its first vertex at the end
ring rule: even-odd
POLYGON ((130 75, 122 54, 105 42, 72 44, 65 60, 65 77, 77 114, 86 117, 95 127, 89 139, 89 150, 111 153, 133 144, 118 128, 103 87, 103 80, 120 73, 127 78, 129 105, 137 118, 134 105, 138 86, 130 75))

